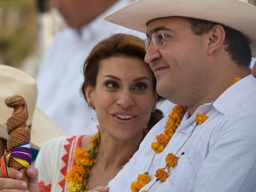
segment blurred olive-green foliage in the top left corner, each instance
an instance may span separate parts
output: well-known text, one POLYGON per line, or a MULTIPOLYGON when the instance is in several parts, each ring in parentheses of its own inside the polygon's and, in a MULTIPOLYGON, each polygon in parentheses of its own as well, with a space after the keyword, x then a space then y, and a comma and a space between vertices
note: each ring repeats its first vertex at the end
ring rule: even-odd
POLYGON ((38 46, 35 0, 0 0, 0 63, 20 67, 38 46))

